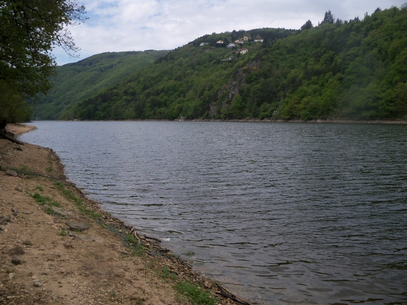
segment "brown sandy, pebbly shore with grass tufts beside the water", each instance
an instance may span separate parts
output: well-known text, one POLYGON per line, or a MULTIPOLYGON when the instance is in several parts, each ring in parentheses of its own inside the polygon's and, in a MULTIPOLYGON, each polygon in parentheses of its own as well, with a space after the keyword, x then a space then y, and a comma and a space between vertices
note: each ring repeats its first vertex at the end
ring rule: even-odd
POLYGON ((51 149, 0 139, 0 165, 19 174, 0 172, 0 303, 237 304, 86 198, 51 149))

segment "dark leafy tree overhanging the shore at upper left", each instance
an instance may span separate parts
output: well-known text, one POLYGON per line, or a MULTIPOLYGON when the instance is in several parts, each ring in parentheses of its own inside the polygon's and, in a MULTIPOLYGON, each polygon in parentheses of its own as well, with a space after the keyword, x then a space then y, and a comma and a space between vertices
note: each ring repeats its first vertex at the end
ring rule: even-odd
MULTIPOLYGON (((7 88, 0 106, 11 109, 11 100, 19 105, 23 97, 47 92, 55 67, 51 50, 55 45, 70 54, 78 50, 67 26, 84 21, 84 9, 76 0, 0 2, 0 86, 7 88)), ((2 115, 9 121, 16 117, 7 113, 2 115)))

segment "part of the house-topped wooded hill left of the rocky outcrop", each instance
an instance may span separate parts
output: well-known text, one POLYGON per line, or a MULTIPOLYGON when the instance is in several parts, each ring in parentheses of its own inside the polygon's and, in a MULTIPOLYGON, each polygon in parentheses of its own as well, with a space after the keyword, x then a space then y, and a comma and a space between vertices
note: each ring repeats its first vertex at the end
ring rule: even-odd
POLYGON ((175 119, 179 116, 208 116, 210 104, 218 99, 221 87, 240 68, 265 46, 295 33, 291 29, 263 28, 200 37, 157 59, 154 65, 136 71, 118 85, 106 88, 68 109, 62 118, 175 119), (264 41, 245 41, 236 48, 226 47, 245 36, 264 41), (221 40, 222 44, 217 43, 221 40), (200 46, 202 43, 206 45, 200 46), (237 55, 239 48, 247 48, 249 52, 237 55))

